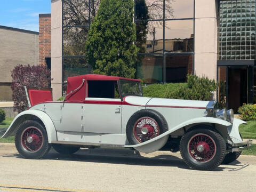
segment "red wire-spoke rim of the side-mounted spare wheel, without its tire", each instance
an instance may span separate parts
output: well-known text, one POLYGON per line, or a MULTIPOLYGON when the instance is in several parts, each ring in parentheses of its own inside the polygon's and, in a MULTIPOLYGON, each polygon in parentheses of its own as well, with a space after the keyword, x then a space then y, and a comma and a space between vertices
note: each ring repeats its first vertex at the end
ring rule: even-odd
POLYGON ((159 135, 159 125, 151 117, 141 117, 133 126, 133 135, 138 142, 145 142, 159 135))

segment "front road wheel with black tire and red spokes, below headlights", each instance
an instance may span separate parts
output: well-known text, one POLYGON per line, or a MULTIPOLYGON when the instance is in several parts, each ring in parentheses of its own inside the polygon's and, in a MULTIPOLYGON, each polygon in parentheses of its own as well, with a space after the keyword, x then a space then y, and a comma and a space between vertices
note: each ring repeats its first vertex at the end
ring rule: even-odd
POLYGON ((192 169, 211 171, 222 163, 226 154, 226 142, 213 130, 191 130, 181 138, 180 154, 192 169))

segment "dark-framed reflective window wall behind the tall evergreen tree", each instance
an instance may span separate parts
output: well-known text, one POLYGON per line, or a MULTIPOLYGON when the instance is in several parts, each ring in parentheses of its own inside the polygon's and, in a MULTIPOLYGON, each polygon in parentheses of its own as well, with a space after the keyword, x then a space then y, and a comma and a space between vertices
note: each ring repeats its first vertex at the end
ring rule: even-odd
MULTIPOLYGON (((184 82, 186 74, 193 73, 194 2, 134 0, 135 44, 139 47, 137 78, 148 83, 184 82)), ((65 82, 69 76, 90 73, 84 46, 100 0, 62 0, 62 3, 65 82)))

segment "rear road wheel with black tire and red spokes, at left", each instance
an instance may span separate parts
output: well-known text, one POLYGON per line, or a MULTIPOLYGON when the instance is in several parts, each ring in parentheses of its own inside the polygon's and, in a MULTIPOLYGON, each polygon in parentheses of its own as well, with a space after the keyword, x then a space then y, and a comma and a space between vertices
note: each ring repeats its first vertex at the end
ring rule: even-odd
POLYGON ((39 159, 51 149, 44 126, 34 120, 21 123, 15 135, 15 146, 24 158, 39 159))

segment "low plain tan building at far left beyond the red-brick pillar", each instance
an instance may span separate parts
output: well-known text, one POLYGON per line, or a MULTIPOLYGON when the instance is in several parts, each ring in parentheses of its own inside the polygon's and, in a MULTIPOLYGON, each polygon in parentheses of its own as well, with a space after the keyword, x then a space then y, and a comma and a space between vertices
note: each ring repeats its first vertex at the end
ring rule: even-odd
POLYGON ((38 65, 35 31, 0 26, 0 101, 12 101, 11 70, 17 65, 38 65))

